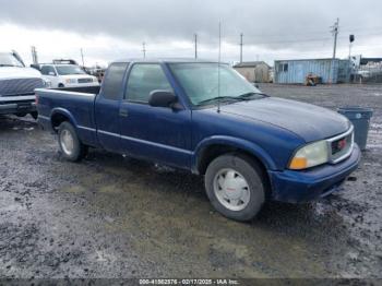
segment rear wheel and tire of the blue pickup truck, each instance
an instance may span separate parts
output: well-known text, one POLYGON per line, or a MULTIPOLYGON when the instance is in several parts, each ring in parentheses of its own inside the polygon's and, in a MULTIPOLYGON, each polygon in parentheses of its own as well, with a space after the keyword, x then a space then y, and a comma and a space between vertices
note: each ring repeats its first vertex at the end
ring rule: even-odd
POLYGON ((67 160, 79 162, 86 156, 87 146, 81 143, 74 127, 68 121, 59 126, 58 143, 67 160))

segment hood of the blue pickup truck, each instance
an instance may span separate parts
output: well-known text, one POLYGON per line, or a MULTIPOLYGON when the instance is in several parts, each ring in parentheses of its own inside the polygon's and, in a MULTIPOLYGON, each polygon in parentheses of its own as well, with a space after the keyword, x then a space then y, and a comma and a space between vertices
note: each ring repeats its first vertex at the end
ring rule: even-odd
POLYGON ((350 128, 350 122, 337 112, 277 97, 224 105, 220 112, 277 126, 306 142, 327 139, 350 128))

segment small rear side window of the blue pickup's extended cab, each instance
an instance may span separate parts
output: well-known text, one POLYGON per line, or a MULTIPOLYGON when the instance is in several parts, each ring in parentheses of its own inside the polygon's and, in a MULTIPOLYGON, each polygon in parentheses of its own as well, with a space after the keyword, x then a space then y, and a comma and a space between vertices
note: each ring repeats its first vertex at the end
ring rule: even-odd
POLYGON ((118 100, 122 96, 122 82, 128 62, 111 63, 104 79, 103 95, 105 98, 118 100))

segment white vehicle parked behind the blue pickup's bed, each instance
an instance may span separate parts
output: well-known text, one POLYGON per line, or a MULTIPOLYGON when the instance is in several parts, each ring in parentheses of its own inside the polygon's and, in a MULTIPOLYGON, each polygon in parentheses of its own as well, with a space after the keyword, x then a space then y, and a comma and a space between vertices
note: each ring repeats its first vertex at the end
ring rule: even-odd
POLYGON ((51 87, 99 86, 96 76, 85 73, 75 64, 41 64, 44 79, 51 82, 51 87))

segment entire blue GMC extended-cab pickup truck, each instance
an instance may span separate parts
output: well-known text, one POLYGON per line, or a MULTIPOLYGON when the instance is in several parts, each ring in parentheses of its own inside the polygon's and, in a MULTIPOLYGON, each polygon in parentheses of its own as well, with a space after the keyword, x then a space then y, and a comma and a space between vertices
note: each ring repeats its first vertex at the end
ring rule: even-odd
POLYGON ((36 94, 67 159, 100 147, 204 175, 212 205, 237 221, 266 200, 325 196, 360 159, 345 117, 264 95, 223 63, 121 60, 100 87, 36 94))

